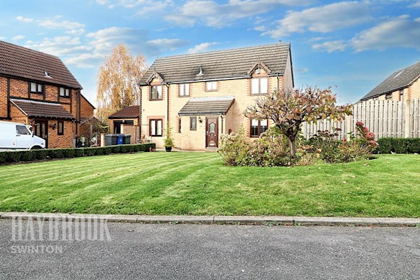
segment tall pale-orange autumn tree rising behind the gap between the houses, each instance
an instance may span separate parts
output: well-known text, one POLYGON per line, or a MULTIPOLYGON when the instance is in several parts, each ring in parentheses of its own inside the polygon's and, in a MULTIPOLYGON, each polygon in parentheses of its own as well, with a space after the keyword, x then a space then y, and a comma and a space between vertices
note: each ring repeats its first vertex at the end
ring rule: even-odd
POLYGON ((139 81, 147 71, 146 59, 134 57, 125 45, 118 45, 97 76, 97 118, 108 123, 108 117, 127 106, 139 104, 139 81))

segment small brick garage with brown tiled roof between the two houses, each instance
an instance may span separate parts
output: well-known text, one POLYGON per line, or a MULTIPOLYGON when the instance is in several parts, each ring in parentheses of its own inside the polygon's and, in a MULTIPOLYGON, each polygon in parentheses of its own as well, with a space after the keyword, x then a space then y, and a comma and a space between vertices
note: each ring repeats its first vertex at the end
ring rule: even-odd
POLYGON ((140 139, 140 106, 128 106, 109 116, 109 130, 112 134, 130 134, 131 144, 140 139))

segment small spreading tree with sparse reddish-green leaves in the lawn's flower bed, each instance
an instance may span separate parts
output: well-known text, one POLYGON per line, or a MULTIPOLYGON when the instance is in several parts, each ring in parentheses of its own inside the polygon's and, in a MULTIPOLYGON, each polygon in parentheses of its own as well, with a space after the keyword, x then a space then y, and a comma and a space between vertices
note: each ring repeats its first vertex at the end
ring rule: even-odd
POLYGON ((245 116, 258 120, 272 120, 276 127, 288 138, 290 156, 296 156, 296 139, 302 123, 317 120, 342 120, 351 115, 351 105, 337 106, 335 94, 331 87, 320 89, 307 87, 274 91, 266 97, 257 99, 248 106, 245 116))

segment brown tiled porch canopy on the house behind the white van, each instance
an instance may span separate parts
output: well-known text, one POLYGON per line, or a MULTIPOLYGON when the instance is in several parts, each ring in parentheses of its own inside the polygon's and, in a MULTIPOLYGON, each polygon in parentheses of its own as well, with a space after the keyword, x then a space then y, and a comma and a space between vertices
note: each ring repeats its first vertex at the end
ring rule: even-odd
POLYGON ((10 102, 28 118, 76 119, 61 104, 27 99, 10 99, 10 102))

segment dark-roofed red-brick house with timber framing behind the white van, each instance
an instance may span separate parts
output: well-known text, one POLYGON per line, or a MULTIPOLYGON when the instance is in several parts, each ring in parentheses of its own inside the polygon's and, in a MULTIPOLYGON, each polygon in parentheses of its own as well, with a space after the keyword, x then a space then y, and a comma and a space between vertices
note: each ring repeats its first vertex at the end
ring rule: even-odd
POLYGON ((0 120, 32 125, 48 148, 68 148, 94 106, 59 57, 0 41, 0 120))

